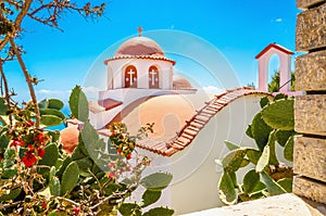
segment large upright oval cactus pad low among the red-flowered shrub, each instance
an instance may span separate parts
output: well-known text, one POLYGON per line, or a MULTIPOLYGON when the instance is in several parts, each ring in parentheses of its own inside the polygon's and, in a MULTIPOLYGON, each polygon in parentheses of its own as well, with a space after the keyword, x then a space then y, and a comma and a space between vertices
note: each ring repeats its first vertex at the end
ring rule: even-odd
POLYGON ((76 162, 70 163, 62 175, 61 195, 70 193, 76 186, 79 179, 79 168, 76 162))

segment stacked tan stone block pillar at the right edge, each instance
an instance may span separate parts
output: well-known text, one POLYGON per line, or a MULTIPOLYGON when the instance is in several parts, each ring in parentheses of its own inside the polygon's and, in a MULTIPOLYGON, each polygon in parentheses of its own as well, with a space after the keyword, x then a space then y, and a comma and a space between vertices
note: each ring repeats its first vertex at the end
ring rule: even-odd
POLYGON ((326 204, 326 0, 297 0, 293 193, 326 204))

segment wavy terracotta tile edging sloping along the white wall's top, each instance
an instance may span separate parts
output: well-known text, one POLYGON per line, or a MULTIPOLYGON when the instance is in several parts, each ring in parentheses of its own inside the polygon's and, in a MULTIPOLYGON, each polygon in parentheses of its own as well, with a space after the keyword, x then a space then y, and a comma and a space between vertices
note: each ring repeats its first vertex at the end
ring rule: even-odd
MULTIPOLYGON (((177 132, 177 136, 168 141, 158 141, 153 139, 143 139, 136 143, 138 148, 161 154, 163 156, 172 156, 176 152, 183 151, 188 147, 200 130, 209 123, 209 120, 227 106, 230 102, 249 94, 269 94, 263 91, 253 90, 249 87, 236 88, 227 90, 224 93, 215 96, 205 105, 196 112, 196 114, 186 120, 185 126, 177 132)), ((108 136, 109 130, 102 129, 100 135, 108 136)))

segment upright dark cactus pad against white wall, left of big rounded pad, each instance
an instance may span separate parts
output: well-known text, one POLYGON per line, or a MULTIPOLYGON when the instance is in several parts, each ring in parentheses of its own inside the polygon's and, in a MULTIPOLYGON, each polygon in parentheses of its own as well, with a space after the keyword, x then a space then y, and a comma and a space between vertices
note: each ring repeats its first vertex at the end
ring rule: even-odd
MULTIPOLYGON (((266 106, 268 107, 268 106, 266 106)), ((264 150, 264 147, 268 142, 268 137, 273 128, 271 128, 262 118, 262 113, 255 114, 251 124, 251 132, 252 137, 260 149, 260 151, 264 150)))

